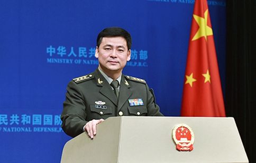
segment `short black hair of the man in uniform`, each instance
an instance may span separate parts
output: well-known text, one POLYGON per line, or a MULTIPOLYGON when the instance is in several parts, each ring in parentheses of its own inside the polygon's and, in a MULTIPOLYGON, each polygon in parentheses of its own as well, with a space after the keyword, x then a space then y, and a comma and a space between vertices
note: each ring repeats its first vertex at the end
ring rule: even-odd
POLYGON ((98 34, 97 37, 97 47, 102 43, 103 37, 123 37, 126 40, 128 50, 132 47, 132 38, 129 32, 120 27, 109 27, 105 28, 98 34))

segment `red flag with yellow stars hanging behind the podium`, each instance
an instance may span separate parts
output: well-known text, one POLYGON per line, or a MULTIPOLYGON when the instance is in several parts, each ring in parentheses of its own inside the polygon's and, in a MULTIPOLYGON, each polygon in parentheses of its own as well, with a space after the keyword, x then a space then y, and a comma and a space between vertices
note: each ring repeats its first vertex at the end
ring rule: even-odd
POLYGON ((181 116, 225 116, 213 29, 206 0, 195 1, 181 116))

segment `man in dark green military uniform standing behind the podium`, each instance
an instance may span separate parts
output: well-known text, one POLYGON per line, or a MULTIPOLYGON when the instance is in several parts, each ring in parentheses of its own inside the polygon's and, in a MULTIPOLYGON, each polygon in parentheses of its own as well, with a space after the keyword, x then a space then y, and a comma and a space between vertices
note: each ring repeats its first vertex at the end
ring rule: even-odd
POLYGON ((122 74, 131 59, 131 35, 126 30, 102 30, 95 57, 99 61, 95 72, 68 84, 61 114, 66 134, 75 137, 87 131, 93 138, 96 125, 113 116, 163 116, 145 80, 122 74))

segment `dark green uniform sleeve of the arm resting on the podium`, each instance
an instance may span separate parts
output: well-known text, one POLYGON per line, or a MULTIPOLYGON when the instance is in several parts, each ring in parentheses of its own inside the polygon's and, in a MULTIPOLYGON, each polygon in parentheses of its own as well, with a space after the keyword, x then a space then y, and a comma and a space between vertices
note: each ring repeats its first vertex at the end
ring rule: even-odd
POLYGON ((83 127, 87 123, 84 97, 79 91, 78 85, 71 81, 67 87, 66 100, 63 103, 61 114, 61 127, 71 137, 83 133, 83 127))

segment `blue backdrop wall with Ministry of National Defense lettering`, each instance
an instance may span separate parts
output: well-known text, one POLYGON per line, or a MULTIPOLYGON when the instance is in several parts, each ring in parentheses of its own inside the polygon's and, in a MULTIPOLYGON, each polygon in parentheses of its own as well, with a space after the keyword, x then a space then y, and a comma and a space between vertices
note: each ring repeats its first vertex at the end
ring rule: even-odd
MULTIPOLYGON (((225 1, 208 1, 222 83, 225 1)), ((194 1, 0 1, 0 162, 59 162, 66 86, 97 68, 97 34, 133 38, 124 74, 147 80, 165 116, 179 116, 194 1)))

